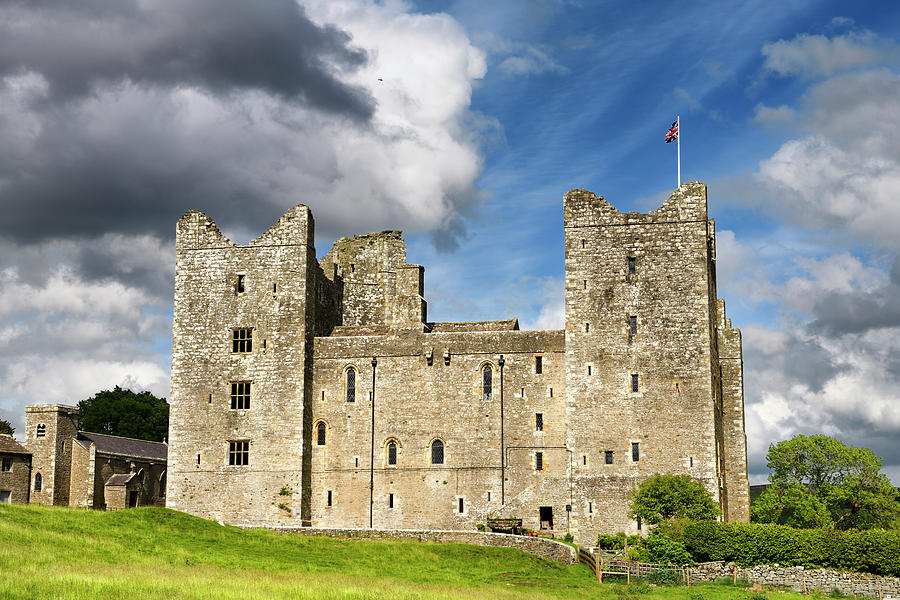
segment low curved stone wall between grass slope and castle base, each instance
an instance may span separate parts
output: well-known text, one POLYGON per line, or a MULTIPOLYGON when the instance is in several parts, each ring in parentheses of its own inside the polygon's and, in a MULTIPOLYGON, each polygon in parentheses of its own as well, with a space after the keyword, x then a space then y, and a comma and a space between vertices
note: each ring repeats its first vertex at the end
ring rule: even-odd
POLYGON ((335 529, 326 527, 274 527, 241 525, 245 529, 269 529, 279 533, 301 535, 325 535, 339 538, 368 538, 386 540, 415 540, 418 542, 445 542, 453 544, 475 544, 477 546, 499 546, 516 548, 530 554, 553 560, 564 565, 576 561, 575 548, 556 540, 541 537, 489 533, 482 531, 450 531, 422 529, 335 529))

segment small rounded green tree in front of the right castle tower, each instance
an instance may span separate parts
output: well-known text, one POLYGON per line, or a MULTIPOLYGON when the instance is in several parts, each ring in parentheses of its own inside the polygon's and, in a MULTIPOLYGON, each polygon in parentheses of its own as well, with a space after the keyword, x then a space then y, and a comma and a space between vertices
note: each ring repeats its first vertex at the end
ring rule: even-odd
POLYGON ((690 475, 656 473, 631 493, 628 516, 650 525, 671 519, 711 521, 719 516, 719 507, 703 484, 690 475))

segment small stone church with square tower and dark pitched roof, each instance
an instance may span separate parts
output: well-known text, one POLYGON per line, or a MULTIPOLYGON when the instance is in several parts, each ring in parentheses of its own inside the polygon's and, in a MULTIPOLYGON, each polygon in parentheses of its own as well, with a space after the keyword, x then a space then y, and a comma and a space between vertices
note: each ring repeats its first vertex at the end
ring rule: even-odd
POLYGON ((165 506, 166 444, 78 431, 78 409, 62 404, 27 406, 25 429, 32 502, 97 509, 165 506))

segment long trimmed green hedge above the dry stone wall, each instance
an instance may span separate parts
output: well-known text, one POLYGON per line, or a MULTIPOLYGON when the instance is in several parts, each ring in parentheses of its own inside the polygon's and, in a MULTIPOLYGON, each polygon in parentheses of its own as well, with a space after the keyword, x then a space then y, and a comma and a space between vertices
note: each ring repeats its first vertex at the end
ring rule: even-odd
POLYGON ((707 521, 686 524, 680 536, 667 535, 680 538, 697 562, 734 561, 742 567, 778 563, 900 575, 900 531, 794 529, 707 521))

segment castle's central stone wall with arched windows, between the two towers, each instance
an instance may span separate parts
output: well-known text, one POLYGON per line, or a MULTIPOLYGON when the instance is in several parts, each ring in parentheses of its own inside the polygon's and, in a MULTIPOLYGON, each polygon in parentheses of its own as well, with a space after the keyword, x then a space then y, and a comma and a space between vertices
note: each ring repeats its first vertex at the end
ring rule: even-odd
MULTIPOLYGON (((375 527, 472 529, 486 515, 499 511, 501 354, 505 360, 504 443, 509 457, 507 502, 543 476, 565 474, 565 460, 549 451, 545 451, 546 471, 536 472, 534 464, 535 447, 565 443, 561 331, 394 330, 385 336, 316 338, 315 344, 313 435, 322 421, 327 438, 324 446, 315 442, 312 446, 314 526, 369 525, 373 356, 378 359, 375 527), (540 374, 535 373, 535 355, 542 357, 540 374), (486 365, 492 369, 488 399, 483 390, 486 365), (352 403, 347 401, 348 368, 356 370, 352 403), (543 418, 540 432, 535 425, 537 412, 543 418), (444 443, 444 463, 439 465, 431 463, 435 439, 444 443), (391 441, 397 444, 396 466, 388 464, 391 441)), ((536 506, 529 507, 535 527, 536 506)), ((557 510, 564 515, 564 503, 557 510)))

